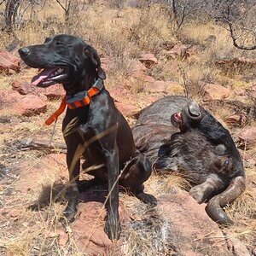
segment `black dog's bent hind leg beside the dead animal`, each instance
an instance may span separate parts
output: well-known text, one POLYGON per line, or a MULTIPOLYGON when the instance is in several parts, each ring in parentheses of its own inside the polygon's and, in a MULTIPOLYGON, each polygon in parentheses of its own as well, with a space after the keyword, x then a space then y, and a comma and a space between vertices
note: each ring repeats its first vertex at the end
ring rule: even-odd
POLYGON ((151 175, 152 168, 148 158, 138 150, 122 172, 121 181, 125 188, 130 188, 137 198, 146 204, 156 206, 154 195, 144 193, 143 183, 151 175))

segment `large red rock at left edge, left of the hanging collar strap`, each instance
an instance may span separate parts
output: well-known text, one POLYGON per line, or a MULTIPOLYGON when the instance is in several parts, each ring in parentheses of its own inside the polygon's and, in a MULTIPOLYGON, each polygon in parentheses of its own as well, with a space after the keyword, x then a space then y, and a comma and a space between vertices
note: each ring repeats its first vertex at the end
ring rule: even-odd
POLYGON ((46 111, 46 102, 35 95, 21 96, 15 90, 0 90, 0 112, 34 115, 46 111))

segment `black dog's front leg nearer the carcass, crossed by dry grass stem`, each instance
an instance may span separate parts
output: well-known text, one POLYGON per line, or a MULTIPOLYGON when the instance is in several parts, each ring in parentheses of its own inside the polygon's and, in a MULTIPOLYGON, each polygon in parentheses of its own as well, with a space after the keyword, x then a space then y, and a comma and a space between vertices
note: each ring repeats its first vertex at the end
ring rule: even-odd
MULTIPOLYGON (((103 146, 104 147, 104 146, 103 146)), ((108 143, 109 147, 109 143, 108 143)), ((108 170, 108 219, 105 232, 111 240, 118 240, 120 236, 119 221, 119 148, 114 142, 113 148, 103 148, 106 167, 108 170)))

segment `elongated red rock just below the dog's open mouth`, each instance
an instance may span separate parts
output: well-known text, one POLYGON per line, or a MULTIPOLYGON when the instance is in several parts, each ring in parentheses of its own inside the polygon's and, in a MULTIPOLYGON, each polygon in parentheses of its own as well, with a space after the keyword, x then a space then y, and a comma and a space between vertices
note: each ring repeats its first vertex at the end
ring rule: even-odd
MULTIPOLYGON (((22 95, 47 96, 49 100, 55 100, 63 97, 66 93, 62 84, 54 84, 47 88, 39 88, 26 81, 16 80, 12 83, 13 90, 18 91, 22 95)), ((45 99, 44 99, 45 100, 45 99)))

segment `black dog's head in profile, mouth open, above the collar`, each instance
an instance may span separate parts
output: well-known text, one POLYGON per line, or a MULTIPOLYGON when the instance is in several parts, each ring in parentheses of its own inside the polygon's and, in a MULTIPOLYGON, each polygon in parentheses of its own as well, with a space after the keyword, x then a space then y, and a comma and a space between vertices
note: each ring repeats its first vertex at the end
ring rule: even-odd
POLYGON ((74 36, 46 38, 44 44, 20 48, 19 54, 29 67, 43 69, 32 78, 32 84, 39 87, 60 83, 73 95, 88 90, 90 79, 106 79, 96 49, 74 36))

